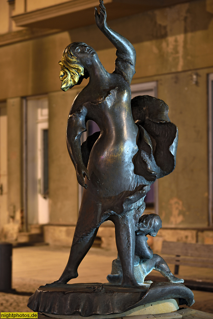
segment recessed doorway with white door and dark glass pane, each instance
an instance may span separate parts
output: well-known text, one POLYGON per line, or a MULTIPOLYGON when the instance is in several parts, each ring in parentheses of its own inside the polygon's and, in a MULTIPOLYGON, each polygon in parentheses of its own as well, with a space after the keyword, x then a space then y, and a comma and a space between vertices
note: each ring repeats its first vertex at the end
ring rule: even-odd
POLYGON ((26 99, 26 210, 29 224, 47 224, 48 98, 26 99))

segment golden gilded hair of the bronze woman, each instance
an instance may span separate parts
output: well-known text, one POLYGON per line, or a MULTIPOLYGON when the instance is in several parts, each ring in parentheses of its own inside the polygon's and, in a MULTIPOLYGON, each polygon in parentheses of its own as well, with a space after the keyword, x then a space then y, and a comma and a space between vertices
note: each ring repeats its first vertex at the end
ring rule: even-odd
POLYGON ((61 65, 60 80, 62 81, 61 89, 67 91, 74 85, 80 84, 84 76, 84 67, 71 51, 69 44, 63 51, 62 58, 58 62, 61 65), (79 78, 82 78, 79 81, 79 78), (79 82, 79 83, 78 83, 79 82))

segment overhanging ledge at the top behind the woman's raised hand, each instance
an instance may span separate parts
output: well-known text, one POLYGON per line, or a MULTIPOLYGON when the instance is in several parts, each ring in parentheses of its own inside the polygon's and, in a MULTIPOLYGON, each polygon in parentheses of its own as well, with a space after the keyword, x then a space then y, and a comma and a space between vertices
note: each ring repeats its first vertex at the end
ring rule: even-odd
MULTIPOLYGON (((107 19, 118 19, 193 0, 104 0, 107 19)), ((68 30, 94 24, 99 0, 71 0, 12 16, 16 26, 68 30)))

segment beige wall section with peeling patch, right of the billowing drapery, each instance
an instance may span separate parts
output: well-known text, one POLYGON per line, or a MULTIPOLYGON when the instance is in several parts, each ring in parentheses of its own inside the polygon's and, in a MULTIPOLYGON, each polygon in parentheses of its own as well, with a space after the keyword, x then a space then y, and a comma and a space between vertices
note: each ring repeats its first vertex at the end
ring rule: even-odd
POLYGON ((177 164, 159 180, 159 211, 163 226, 208 226, 207 75, 213 68, 159 78, 158 96, 169 105, 179 129, 177 164))

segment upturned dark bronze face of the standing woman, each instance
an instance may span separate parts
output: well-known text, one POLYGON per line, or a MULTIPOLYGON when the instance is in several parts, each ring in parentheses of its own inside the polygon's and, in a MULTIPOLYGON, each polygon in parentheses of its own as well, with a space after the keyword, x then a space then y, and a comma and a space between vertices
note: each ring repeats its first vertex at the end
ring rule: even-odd
POLYGON ((88 63, 97 56, 95 50, 84 42, 72 43, 72 53, 82 62, 88 63))

